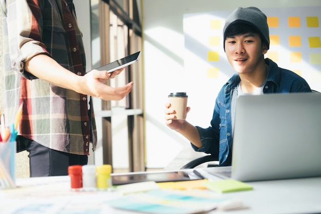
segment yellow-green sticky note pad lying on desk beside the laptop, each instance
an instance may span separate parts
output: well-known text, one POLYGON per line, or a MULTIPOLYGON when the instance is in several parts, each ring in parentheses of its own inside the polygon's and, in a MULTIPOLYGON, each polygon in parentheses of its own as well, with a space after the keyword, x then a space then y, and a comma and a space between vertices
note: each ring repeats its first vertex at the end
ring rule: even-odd
POLYGON ((220 192, 220 193, 253 189, 253 187, 247 183, 232 180, 232 179, 220 180, 220 181, 209 181, 209 182, 205 182, 204 185, 209 190, 220 192))

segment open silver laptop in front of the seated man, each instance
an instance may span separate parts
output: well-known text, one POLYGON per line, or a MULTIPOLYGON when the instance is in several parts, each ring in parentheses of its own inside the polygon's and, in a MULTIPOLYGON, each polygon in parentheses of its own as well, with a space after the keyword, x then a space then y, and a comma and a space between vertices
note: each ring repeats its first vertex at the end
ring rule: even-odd
POLYGON ((237 99, 232 166, 207 172, 238 181, 321 176, 321 93, 237 99), (230 173, 229 173, 230 172, 230 173))

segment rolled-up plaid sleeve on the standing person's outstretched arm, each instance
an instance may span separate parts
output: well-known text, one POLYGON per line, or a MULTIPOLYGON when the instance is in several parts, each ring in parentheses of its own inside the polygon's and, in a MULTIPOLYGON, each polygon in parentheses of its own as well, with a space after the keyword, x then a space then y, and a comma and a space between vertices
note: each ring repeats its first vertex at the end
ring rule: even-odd
POLYGON ((25 62, 38 54, 50 56, 42 42, 41 4, 42 1, 9 0, 5 8, 11 67, 26 79, 36 77, 25 70, 25 62))

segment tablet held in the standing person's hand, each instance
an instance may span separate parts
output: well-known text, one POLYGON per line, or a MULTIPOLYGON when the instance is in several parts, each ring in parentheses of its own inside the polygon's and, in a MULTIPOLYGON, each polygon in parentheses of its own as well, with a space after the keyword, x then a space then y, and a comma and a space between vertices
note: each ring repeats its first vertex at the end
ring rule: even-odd
POLYGON ((108 63, 106 65, 103 65, 102 67, 96 68, 96 70, 107 70, 108 73, 113 72, 115 70, 124 68, 126 66, 129 66, 136 62, 139 59, 139 56, 141 56, 141 51, 138 51, 136 53, 133 53, 131 55, 128 55, 122 59, 116 60, 112 63, 108 63))

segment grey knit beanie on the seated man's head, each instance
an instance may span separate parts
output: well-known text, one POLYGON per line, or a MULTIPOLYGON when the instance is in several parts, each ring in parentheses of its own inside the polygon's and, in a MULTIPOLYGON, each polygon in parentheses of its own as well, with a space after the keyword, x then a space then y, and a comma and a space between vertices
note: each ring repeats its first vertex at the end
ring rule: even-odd
MULTIPOLYGON (((254 27, 264 39, 264 42, 270 48, 269 26, 266 15, 256 7, 242 8, 234 10, 225 21, 223 28, 224 41, 226 39, 227 29, 237 23, 244 23, 254 27)), ((225 50, 225 42, 224 50, 225 50)))

